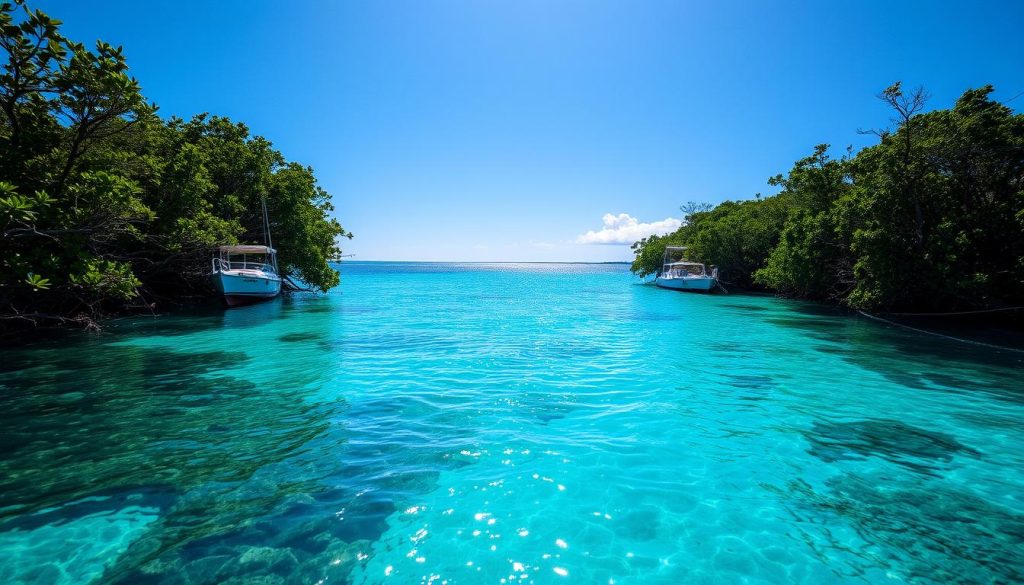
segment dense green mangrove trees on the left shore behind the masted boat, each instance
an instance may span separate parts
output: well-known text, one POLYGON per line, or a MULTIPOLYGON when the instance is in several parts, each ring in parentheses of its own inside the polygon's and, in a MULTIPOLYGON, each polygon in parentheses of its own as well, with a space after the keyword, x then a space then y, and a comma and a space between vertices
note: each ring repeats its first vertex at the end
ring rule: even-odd
POLYGON ((211 294, 219 245, 263 240, 286 275, 327 290, 351 237, 312 169, 226 118, 161 120, 121 47, 0 4, 0 324, 95 317, 211 294))

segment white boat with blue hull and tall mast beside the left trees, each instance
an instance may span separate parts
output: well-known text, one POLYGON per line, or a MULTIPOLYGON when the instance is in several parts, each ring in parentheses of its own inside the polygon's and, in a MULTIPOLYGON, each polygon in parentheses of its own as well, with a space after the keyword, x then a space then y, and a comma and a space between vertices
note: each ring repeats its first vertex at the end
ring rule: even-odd
POLYGON ((278 251, 270 240, 270 225, 263 202, 266 246, 221 246, 213 258, 213 284, 227 306, 273 298, 281 294, 278 251))

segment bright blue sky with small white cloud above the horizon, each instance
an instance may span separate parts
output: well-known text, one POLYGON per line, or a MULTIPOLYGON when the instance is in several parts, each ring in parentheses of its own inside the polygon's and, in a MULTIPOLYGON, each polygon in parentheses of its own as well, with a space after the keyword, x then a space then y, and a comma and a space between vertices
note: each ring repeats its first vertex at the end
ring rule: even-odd
POLYGON ((227 116, 311 165, 360 260, 627 260, 607 242, 683 202, 870 143, 896 80, 932 108, 1024 91, 1024 2, 33 6, 123 45, 164 116, 227 116))

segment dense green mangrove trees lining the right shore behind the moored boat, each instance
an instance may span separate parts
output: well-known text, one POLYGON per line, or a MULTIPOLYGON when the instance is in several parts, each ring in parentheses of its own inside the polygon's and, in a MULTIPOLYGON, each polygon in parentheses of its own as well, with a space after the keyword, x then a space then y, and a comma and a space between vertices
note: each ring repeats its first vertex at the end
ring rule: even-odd
POLYGON ((633 269, 656 271, 666 245, 723 278, 857 308, 954 310, 1024 299, 1024 116, 968 90, 922 113, 922 90, 880 97, 897 128, 831 159, 820 144, 774 197, 726 202, 675 234, 634 245, 633 269))

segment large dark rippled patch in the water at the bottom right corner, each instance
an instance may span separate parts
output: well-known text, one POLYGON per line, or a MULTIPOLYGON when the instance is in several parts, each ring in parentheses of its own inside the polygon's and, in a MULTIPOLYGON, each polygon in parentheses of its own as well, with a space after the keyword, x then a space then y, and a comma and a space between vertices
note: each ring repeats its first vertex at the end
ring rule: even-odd
MULTIPOLYGON (((851 523, 867 546, 861 554, 906 583, 1024 582, 1024 515, 953 490, 941 479, 908 480, 845 473, 816 491, 803 482, 768 489, 793 504, 804 526, 820 525, 835 541, 833 515, 851 523), (878 556, 879 548, 890 551, 878 556)), ((849 548, 842 542, 833 547, 849 548)))

